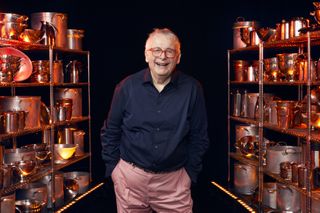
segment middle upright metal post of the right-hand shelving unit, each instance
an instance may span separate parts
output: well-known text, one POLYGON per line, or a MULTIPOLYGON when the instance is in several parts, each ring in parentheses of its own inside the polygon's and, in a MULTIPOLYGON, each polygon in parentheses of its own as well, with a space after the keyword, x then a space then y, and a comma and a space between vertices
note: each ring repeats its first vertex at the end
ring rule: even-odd
POLYGON ((263 140, 263 42, 259 43, 259 166, 258 166, 258 203, 259 212, 262 212, 263 201, 263 163, 264 163, 264 140, 263 140))

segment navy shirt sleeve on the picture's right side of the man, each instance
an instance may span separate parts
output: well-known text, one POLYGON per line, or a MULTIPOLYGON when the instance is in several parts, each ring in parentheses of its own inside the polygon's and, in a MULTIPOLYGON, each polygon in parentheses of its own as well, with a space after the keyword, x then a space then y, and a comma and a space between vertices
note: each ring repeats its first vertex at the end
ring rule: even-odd
POLYGON ((196 183, 202 170, 202 158, 209 147, 208 122, 202 87, 198 83, 190 115, 191 129, 188 136, 188 161, 185 169, 192 182, 196 183))

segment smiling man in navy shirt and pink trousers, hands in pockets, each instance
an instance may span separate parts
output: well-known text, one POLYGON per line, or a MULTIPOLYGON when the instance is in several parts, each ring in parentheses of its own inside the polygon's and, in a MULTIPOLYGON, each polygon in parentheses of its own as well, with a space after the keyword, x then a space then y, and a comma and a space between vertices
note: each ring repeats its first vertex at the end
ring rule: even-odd
POLYGON ((209 139, 201 85, 176 70, 180 58, 178 37, 155 29, 145 45, 149 68, 115 88, 101 143, 118 212, 192 212, 190 185, 209 139))

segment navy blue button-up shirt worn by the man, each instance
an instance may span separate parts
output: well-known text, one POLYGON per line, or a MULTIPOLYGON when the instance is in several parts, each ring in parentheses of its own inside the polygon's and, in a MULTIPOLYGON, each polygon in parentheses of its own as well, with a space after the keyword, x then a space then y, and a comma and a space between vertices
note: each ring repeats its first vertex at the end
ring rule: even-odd
POLYGON ((184 167, 196 182, 209 146, 200 83, 174 71, 159 92, 149 69, 128 76, 115 88, 101 144, 106 177, 122 158, 152 171, 184 167))

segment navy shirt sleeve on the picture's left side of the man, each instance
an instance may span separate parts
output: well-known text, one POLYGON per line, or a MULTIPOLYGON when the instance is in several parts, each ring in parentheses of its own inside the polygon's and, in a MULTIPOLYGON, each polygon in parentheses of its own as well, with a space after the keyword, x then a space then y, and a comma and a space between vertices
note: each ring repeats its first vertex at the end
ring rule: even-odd
POLYGON ((124 106, 124 93, 121 84, 114 90, 107 119, 100 131, 102 159, 105 162, 105 176, 111 173, 120 160, 121 125, 124 106))

